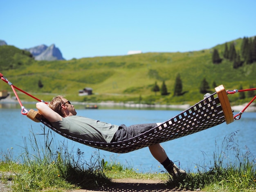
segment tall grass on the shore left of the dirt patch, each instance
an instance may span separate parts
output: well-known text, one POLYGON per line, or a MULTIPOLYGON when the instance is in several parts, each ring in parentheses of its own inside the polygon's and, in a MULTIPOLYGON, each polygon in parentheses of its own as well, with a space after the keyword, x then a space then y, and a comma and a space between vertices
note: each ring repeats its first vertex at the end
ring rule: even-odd
MULTIPOLYGON (((25 146, 22 159, 22 168, 13 178, 13 191, 35 191, 45 189, 72 189, 95 188, 108 183, 103 173, 99 158, 92 156, 90 162, 83 161, 83 152, 80 149, 71 152, 67 143, 54 142, 52 131, 43 129, 44 144, 38 142, 37 135, 31 129, 29 139, 24 138, 25 146), (29 141, 29 142, 28 142, 29 141)), ((11 156, 5 157, 1 163, 12 164, 11 156)), ((13 171, 13 170, 7 170, 13 171)))

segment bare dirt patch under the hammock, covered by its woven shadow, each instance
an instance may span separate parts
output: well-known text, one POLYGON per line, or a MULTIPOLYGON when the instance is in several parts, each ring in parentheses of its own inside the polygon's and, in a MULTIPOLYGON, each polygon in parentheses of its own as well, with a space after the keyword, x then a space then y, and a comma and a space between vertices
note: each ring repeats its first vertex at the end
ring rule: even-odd
POLYGON ((189 192, 190 190, 173 189, 161 180, 113 179, 108 186, 95 190, 72 190, 72 192, 189 192))

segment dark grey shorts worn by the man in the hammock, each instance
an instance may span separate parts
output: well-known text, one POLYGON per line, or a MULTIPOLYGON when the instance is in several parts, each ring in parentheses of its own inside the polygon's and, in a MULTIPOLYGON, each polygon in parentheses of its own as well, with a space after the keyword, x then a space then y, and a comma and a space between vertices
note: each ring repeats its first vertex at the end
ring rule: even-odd
POLYGON ((156 126, 156 123, 131 125, 129 127, 126 127, 126 125, 120 125, 111 142, 127 140, 141 133, 144 133, 156 126))

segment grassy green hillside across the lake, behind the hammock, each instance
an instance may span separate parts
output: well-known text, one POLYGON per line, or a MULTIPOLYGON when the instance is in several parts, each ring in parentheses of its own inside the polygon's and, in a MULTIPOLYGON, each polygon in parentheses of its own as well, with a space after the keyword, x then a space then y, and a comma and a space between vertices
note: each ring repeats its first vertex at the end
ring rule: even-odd
MULTIPOLYGON (((239 51, 242 39, 234 41, 239 51)), ((230 42, 229 42, 230 43, 230 42)), ((225 45, 213 47, 223 58, 225 45)), ((202 99, 199 92, 203 78, 206 78, 211 90, 213 82, 223 84, 226 89, 249 88, 255 84, 256 63, 243 64, 233 69, 233 63, 222 60, 220 64, 212 63, 212 49, 191 51, 185 53, 144 53, 127 56, 107 56, 58 61, 35 61, 31 55, 13 46, 0 46, 0 72, 13 85, 33 94, 50 100, 56 94, 63 94, 76 101, 135 101, 142 103, 190 103, 202 99), (182 96, 173 96, 175 78, 180 74, 183 85, 182 96), (165 81, 167 96, 155 95, 151 91, 157 82, 161 87, 165 81), (39 87, 41 83, 43 87, 39 87), (78 96, 79 89, 91 87, 92 96, 78 96)), ((4 82, 0 90, 11 89, 4 82)), ((28 100, 27 96, 21 98, 28 100)), ((232 95, 231 101, 238 101, 237 95, 232 95)))

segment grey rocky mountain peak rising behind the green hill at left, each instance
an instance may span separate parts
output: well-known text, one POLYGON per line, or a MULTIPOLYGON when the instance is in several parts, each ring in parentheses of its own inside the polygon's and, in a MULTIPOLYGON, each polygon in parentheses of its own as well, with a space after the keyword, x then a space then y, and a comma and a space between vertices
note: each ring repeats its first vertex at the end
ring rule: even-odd
POLYGON ((39 45, 25 50, 29 51, 35 57, 35 60, 65 60, 62 57, 60 49, 55 47, 54 44, 49 47, 39 45))

